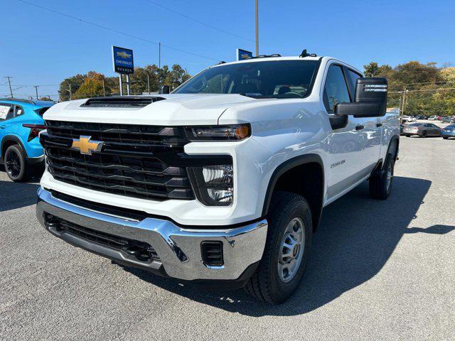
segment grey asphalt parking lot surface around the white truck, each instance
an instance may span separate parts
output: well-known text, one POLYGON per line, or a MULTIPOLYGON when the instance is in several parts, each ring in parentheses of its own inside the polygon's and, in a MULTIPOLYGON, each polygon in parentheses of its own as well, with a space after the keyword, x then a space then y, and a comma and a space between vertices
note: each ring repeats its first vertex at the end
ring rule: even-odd
POLYGON ((287 303, 182 286, 52 237, 0 171, 0 340, 455 340, 455 141, 401 139, 392 195, 326 207, 287 303))

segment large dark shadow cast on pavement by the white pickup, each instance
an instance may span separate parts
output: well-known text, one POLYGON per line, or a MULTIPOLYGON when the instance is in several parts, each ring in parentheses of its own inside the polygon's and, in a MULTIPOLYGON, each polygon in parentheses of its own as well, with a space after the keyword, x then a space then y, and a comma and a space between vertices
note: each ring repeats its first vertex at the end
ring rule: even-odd
POLYGON ((387 262, 403 234, 445 234, 455 227, 408 228, 424 205, 431 181, 394 178, 388 200, 373 200, 368 183, 326 207, 314 234, 311 259, 294 296, 282 305, 259 303, 240 291, 206 291, 139 269, 126 270, 156 286, 193 301, 244 315, 299 315, 333 301, 373 278, 387 262))

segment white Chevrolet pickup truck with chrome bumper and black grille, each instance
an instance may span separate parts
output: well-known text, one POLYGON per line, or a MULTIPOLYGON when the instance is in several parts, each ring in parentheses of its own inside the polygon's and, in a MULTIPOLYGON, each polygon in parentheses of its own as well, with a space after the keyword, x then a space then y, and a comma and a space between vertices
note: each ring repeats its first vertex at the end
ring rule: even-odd
POLYGON ((323 207, 365 180, 390 194, 400 122, 386 101, 387 80, 341 60, 273 55, 171 94, 56 104, 38 220, 122 266, 281 303, 323 207))

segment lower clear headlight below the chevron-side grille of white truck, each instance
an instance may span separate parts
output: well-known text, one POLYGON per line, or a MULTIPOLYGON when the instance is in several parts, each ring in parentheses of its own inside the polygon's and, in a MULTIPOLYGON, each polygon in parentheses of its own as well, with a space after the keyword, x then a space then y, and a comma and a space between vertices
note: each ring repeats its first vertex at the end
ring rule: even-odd
POLYGON ((190 167, 196 197, 204 205, 228 206, 234 199, 234 171, 232 166, 190 167))

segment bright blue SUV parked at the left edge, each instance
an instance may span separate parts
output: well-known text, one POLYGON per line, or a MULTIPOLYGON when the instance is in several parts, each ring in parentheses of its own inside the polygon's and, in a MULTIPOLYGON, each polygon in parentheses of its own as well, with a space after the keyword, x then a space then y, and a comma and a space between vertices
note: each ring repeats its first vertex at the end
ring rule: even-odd
POLYGON ((0 99, 0 162, 13 181, 26 181, 44 169, 38 133, 45 129, 43 113, 53 102, 0 99))

